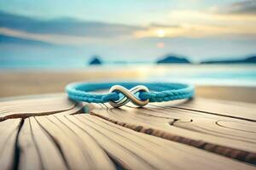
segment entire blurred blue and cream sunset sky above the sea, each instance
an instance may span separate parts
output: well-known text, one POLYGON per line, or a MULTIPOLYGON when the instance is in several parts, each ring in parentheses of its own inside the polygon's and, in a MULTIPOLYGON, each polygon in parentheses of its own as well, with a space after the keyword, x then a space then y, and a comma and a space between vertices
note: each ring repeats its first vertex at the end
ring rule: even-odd
POLYGON ((256 0, 0 0, 0 59, 199 62, 256 54, 256 0))

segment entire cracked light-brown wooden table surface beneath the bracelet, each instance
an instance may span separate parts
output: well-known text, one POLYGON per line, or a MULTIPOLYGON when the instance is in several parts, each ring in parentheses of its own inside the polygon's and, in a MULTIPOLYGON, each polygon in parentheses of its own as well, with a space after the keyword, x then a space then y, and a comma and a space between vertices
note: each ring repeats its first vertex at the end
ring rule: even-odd
POLYGON ((0 169, 256 169, 256 105, 217 99, 0 102, 0 169))

